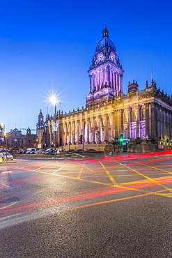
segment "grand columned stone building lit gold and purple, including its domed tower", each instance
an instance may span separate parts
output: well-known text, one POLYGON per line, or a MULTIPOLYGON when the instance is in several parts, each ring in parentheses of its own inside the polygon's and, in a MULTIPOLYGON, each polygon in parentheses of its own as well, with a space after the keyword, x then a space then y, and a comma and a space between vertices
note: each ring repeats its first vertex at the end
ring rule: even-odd
POLYGON ((79 144, 79 136, 84 143, 107 143, 118 138, 135 139, 154 137, 172 138, 172 99, 157 89, 152 80, 146 81, 145 89, 139 91, 137 82, 129 83, 127 94, 123 93, 123 68, 117 56, 116 46, 109 39, 105 27, 102 39, 97 43, 89 76, 89 93, 86 107, 63 114, 46 116, 44 125, 47 146, 54 144, 79 144), (58 123, 56 133, 53 123, 58 123))

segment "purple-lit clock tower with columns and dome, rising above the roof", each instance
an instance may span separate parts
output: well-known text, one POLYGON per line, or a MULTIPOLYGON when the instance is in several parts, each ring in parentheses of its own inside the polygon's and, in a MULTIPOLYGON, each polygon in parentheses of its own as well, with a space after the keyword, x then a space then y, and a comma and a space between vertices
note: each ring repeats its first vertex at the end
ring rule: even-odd
POLYGON ((102 39, 97 43, 95 55, 88 70, 90 86, 86 96, 86 107, 123 95, 123 73, 116 46, 109 39, 109 31, 105 25, 102 39))

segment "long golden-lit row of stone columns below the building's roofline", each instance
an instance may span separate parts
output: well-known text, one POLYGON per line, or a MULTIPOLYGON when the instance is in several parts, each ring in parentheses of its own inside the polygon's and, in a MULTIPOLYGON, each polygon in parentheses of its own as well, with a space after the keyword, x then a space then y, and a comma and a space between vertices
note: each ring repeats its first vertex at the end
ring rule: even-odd
POLYGON ((143 135, 159 138, 172 138, 172 112, 155 103, 134 105, 123 109, 111 109, 111 112, 88 114, 86 110, 82 115, 75 114, 63 116, 58 121, 58 132, 53 132, 51 122, 48 123, 47 132, 49 142, 65 144, 79 144, 82 135, 85 144, 98 142, 107 143, 112 138, 118 138, 120 133, 125 138, 143 138, 143 135), (54 139, 56 137, 56 139, 54 139))

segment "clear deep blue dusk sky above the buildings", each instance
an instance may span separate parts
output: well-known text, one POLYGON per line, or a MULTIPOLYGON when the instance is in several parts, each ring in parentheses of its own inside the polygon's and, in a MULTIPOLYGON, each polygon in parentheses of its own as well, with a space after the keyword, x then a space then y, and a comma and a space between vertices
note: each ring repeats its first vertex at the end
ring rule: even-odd
POLYGON ((152 73, 171 96, 171 9, 170 0, 0 0, 0 123, 7 132, 36 128, 40 109, 54 114, 52 91, 63 113, 85 107, 104 24, 125 70, 123 92, 133 79, 144 89, 152 73))

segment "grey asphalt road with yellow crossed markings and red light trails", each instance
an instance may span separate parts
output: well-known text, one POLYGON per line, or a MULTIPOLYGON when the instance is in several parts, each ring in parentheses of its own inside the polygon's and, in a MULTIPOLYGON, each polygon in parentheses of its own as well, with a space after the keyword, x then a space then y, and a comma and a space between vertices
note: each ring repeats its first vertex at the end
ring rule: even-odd
POLYGON ((0 257, 172 257, 172 153, 0 165, 0 257))

